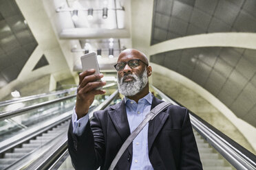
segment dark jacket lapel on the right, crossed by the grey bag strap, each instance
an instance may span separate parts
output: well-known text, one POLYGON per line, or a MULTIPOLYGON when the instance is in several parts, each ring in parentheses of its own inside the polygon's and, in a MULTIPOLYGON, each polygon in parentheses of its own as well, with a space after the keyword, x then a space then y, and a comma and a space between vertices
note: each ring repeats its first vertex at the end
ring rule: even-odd
MULTIPOLYGON (((160 99, 157 99, 156 97, 153 97, 151 110, 152 108, 155 108, 158 104, 162 103, 160 99)), ((162 129, 162 126, 164 125, 165 121, 167 121, 167 118, 169 117, 168 113, 160 112, 158 116, 156 116, 152 121, 149 121, 149 130, 148 130, 148 147, 149 151, 153 145, 153 141, 155 141, 156 136, 162 129)))

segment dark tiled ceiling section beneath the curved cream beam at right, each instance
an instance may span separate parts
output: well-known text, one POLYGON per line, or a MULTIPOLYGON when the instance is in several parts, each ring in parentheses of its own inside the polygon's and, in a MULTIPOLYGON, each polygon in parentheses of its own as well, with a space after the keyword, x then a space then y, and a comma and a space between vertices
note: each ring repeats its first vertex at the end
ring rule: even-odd
MULTIPOLYGON (((256 50, 233 47, 178 49, 150 56, 208 90, 237 117, 256 106, 256 50)), ((254 113, 255 114, 255 113, 254 113)), ((256 126, 256 122, 252 125, 256 126)))

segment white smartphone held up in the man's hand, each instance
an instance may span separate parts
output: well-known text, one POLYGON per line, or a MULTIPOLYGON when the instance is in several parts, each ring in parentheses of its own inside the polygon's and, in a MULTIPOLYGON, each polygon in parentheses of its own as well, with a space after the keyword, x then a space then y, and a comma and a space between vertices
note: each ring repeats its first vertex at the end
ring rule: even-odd
MULTIPOLYGON (((98 66, 98 60, 97 60, 97 54, 95 52, 86 53, 84 56, 81 56, 81 62, 82 62, 82 68, 83 71, 89 70, 89 69, 95 69, 94 74, 100 73, 100 68, 98 66)), ((101 80, 98 80, 101 81, 101 80)), ((97 90, 101 89, 96 88, 97 90)))

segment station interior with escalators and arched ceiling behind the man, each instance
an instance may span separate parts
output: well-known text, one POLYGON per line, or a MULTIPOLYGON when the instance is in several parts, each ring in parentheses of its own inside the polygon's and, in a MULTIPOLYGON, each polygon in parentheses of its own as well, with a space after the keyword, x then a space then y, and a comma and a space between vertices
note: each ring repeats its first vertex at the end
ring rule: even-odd
POLYGON ((122 99, 125 49, 147 56, 153 94, 191 112, 204 169, 256 169, 255 0, 0 0, 0 169, 74 169, 81 56, 97 53, 109 85, 99 110, 122 99))

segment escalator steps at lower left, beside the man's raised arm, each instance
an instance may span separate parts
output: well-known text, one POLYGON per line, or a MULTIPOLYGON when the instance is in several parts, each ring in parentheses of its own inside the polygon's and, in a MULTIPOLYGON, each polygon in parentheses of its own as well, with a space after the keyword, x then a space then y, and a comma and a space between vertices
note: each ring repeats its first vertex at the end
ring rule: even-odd
POLYGON ((47 142, 52 141, 60 134, 67 133, 69 122, 70 121, 65 121, 61 123, 61 125, 52 128, 52 130, 41 134, 41 136, 31 139, 29 143, 23 143, 21 147, 16 147, 12 152, 4 154, 3 158, 0 158, 0 170, 7 169, 10 165, 21 160, 36 149, 39 149, 47 142))

